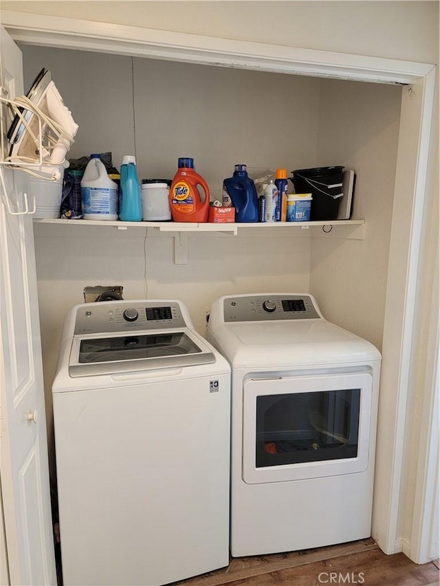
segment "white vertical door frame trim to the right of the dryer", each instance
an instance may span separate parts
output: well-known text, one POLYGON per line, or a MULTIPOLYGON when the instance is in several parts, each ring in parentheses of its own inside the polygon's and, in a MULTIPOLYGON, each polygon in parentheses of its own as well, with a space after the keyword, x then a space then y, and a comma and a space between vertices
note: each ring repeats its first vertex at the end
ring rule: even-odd
MULTIPOLYGON (((386 293, 373 537, 386 553, 395 551, 401 515, 404 437, 410 372, 421 357, 412 348, 420 278, 421 234, 434 104, 434 71, 402 91, 393 226, 386 293), (408 183, 410 190, 408 190, 408 183), (410 193, 412 192, 412 193, 410 193), (407 230, 405 234, 403 230, 407 230), (403 259, 406 259, 405 261, 403 259), (400 291, 400 294, 399 294, 400 291), (404 295, 401 292, 404 292, 404 295), (387 446, 393 446, 392 451, 387 446), (385 497, 387 495, 387 497, 385 497), (388 500, 388 503, 386 502, 388 500), (383 519, 388 519, 387 523, 383 519)), ((424 444, 423 450, 432 450, 424 444)))

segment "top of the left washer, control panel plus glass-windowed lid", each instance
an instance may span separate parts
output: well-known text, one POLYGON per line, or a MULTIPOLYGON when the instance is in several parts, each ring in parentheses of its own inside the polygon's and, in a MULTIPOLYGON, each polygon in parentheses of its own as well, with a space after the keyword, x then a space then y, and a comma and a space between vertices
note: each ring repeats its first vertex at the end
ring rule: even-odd
POLYGON ((181 368, 215 362, 186 327, 178 302, 84 304, 76 310, 70 376, 181 368))

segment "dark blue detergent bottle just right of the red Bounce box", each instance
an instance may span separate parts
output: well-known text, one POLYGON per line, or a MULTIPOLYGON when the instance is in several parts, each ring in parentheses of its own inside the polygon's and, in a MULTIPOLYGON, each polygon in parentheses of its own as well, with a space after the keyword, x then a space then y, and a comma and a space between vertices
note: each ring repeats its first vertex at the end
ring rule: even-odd
POLYGON ((236 222, 259 221, 255 183, 248 176, 245 165, 236 165, 232 177, 223 179, 223 205, 229 201, 235 207, 236 222))

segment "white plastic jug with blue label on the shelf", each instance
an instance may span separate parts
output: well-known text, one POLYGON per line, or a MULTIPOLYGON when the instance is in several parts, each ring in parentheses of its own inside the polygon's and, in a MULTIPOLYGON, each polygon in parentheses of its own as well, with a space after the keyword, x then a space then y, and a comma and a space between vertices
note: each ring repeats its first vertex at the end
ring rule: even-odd
POLYGON ((118 219, 118 184, 111 181, 100 155, 90 155, 81 179, 81 207, 85 220, 118 219))

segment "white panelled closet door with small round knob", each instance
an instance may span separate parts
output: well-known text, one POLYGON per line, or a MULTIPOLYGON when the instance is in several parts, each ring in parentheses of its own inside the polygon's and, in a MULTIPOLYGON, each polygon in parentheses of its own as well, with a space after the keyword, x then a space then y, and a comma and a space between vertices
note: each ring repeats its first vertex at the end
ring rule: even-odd
MULTIPOLYGON (((0 58, 3 97, 21 95, 21 52, 3 28, 0 58)), ((1 115, 8 116, 4 107, 1 115)), ((17 207, 27 175, 3 173, 17 207)), ((1 189, 0 324, 2 584, 56 584, 32 216, 10 214, 1 189)))

